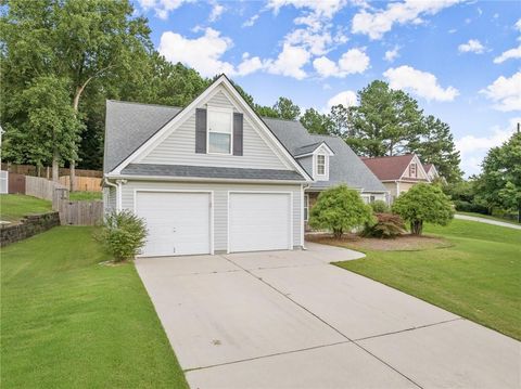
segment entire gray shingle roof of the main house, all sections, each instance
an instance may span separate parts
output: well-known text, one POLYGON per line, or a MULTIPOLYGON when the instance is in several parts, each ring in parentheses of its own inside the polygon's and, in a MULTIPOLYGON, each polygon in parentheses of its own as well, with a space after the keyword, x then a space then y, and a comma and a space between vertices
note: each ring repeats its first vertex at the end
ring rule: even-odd
MULTIPOLYGON (((105 153, 103 160, 103 171, 110 172, 111 170, 113 170, 117 165, 125 160, 125 158, 127 158, 137 148, 139 148, 139 146, 141 146, 148 139, 150 139, 154 133, 156 133, 161 128, 163 128, 164 125, 171 120, 181 109, 182 108, 179 107, 138 104, 109 100, 106 102, 105 153)), ((329 185, 345 183, 348 186, 361 187, 365 191, 385 191, 383 184, 356 156, 356 154, 351 150, 351 147, 347 146, 345 142, 342 141, 340 138, 309 134, 300 121, 280 120, 271 118, 263 118, 263 120, 293 156, 304 154, 302 150, 308 150, 313 147, 316 148, 322 142, 325 142, 333 151, 334 155, 330 159, 330 181, 319 181, 313 183, 312 187, 322 189, 329 185)), ((143 169, 142 167, 140 167, 141 165, 131 166, 127 167, 124 170, 125 173, 129 174, 130 171, 141 171, 143 172, 143 174, 145 173, 144 170, 132 170, 143 169)), ((154 176, 164 176, 166 168, 162 166, 164 165, 150 165, 148 169, 152 169, 149 171, 154 171, 154 176)), ((192 177, 217 178, 217 176, 215 174, 223 174, 223 177, 219 178, 247 179, 252 177, 253 179, 259 180, 303 179, 297 172, 287 170, 231 169, 233 171, 225 171, 221 169, 228 168, 207 167, 205 169, 211 170, 199 170, 200 167, 191 167, 193 169, 187 170, 187 167, 182 166, 168 167, 170 169, 174 169, 170 171, 169 176, 190 173, 206 174, 192 177), (269 174, 271 174, 270 177, 265 176, 268 174, 268 172, 269 174), (290 172, 292 173, 292 176, 290 174, 290 172), (213 176, 207 176, 211 173, 213 176), (294 178, 290 178, 290 176, 294 178)), ((307 172, 309 173, 309 176, 312 174, 312 171, 307 172)))

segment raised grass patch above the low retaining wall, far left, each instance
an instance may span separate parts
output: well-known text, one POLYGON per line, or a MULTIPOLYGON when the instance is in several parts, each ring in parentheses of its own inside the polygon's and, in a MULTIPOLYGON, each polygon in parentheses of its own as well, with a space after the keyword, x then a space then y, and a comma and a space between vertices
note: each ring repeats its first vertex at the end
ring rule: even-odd
POLYGON ((52 210, 51 202, 17 194, 0 195, 0 220, 15 222, 26 215, 45 213, 52 210))

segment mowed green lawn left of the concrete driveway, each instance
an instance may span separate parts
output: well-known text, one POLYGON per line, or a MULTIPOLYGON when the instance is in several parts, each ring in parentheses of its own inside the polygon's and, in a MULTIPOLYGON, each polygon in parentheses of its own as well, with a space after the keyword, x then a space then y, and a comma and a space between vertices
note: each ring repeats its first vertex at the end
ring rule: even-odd
POLYGON ((188 388, 134 264, 99 264, 93 231, 2 248, 1 387, 188 388))

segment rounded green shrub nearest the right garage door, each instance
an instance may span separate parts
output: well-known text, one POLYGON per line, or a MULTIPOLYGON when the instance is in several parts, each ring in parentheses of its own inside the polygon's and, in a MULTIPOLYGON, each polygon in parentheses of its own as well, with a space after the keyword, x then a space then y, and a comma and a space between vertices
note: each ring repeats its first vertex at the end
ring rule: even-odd
POLYGON ((344 231, 372 223, 372 209, 360 194, 346 185, 330 187, 317 198, 310 211, 309 225, 332 231, 340 238, 344 231))

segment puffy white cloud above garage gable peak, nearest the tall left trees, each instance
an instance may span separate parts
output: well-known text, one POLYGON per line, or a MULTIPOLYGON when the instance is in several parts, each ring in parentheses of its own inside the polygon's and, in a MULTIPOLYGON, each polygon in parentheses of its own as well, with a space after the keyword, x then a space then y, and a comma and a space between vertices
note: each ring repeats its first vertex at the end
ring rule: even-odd
POLYGON ((230 38, 208 27, 203 36, 195 39, 173 31, 163 33, 158 50, 171 63, 181 62, 195 68, 203 77, 212 77, 220 73, 234 74, 233 65, 220 60, 232 46, 230 38))

